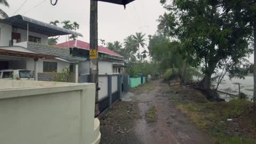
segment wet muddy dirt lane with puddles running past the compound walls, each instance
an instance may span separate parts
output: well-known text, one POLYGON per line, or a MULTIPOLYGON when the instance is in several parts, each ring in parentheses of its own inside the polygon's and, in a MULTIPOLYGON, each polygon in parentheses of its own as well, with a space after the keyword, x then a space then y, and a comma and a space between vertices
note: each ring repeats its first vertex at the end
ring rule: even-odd
POLYGON ((134 95, 138 101, 140 118, 135 124, 134 135, 138 143, 212 143, 212 138, 198 130, 189 119, 175 109, 167 95, 162 94, 161 81, 154 81, 154 90, 134 95), (157 121, 148 123, 145 114, 155 106, 157 121))

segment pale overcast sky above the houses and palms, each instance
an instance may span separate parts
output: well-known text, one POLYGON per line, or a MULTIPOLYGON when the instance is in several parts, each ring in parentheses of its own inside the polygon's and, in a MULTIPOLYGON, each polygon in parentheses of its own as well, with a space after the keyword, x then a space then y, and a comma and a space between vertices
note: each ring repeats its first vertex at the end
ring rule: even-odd
MULTIPOLYGON (((10 8, 3 10, 11 17, 26 0, 7 0, 10 8)), ((54 0, 53 0, 54 1, 54 0)), ((157 29, 158 16, 164 13, 159 0, 136 0, 124 6, 105 2, 98 3, 98 37, 106 42, 120 41, 131 34, 142 32, 154 35, 157 29)), ((52 6, 50 0, 27 0, 21 9, 14 15, 21 14, 29 18, 50 22, 54 20, 70 20, 79 23, 77 30, 84 37, 78 39, 89 42, 90 1, 89 0, 59 0, 57 6, 52 6), (39 6, 36 5, 43 2, 39 6), (32 9, 32 10, 31 10, 32 9), (30 10, 30 11, 29 11, 30 10), (29 12, 27 12, 29 11, 29 12)), ((60 24, 60 26, 62 26, 60 24)), ((65 42, 65 36, 59 43, 65 42)), ((99 41, 99 45, 101 45, 99 41)))

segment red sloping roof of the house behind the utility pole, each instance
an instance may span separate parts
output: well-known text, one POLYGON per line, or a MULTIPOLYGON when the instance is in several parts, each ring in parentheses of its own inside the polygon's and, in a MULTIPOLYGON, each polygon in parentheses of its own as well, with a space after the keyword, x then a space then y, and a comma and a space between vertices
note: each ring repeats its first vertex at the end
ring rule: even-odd
MULTIPOLYGON (((80 49, 90 50, 90 44, 89 43, 79 41, 79 40, 72 40, 72 41, 69 41, 69 42, 57 44, 55 46, 59 46, 59 47, 77 47, 77 48, 80 48, 80 49)), ((113 52, 113 51, 109 50, 107 47, 104 47, 104 46, 99 46, 98 51, 100 53, 110 54, 110 55, 114 55, 114 56, 117 56, 117 57, 123 57, 122 55, 120 55, 116 52, 113 52)))

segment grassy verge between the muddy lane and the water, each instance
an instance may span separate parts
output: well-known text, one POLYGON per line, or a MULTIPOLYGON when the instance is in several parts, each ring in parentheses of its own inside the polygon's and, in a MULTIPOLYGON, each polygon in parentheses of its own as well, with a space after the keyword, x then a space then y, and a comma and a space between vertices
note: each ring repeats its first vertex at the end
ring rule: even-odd
POLYGON ((199 129, 214 137, 214 143, 256 143, 256 103, 239 99, 206 102, 194 90, 182 90, 179 94, 168 93, 172 89, 163 85, 163 93, 169 95, 174 106, 186 114, 199 129), (233 121, 228 122, 228 118, 233 121))

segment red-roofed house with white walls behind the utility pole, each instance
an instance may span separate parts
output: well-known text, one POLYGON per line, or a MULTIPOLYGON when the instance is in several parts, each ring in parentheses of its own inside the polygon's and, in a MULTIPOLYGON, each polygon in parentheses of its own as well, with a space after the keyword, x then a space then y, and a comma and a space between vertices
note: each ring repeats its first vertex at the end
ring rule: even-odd
MULTIPOLYGON (((90 74, 90 62, 89 52, 90 44, 73 40, 61 44, 57 44, 58 47, 69 47, 70 55, 76 59, 86 59, 80 61, 78 64, 78 75, 89 75, 90 74)), ((111 75, 111 74, 124 74, 124 57, 116 52, 109 50, 107 47, 99 46, 99 75, 111 75)))

